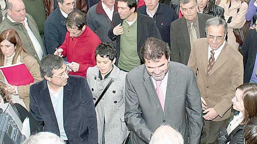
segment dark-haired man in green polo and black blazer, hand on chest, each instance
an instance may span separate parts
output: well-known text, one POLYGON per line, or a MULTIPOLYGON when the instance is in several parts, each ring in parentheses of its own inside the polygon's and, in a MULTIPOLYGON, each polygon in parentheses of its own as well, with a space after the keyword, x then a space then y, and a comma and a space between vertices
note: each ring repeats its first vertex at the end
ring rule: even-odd
POLYGON ((118 0, 117 7, 108 36, 117 39, 116 65, 128 72, 142 64, 139 53, 144 41, 151 36, 162 37, 152 18, 136 12, 136 0, 118 0))

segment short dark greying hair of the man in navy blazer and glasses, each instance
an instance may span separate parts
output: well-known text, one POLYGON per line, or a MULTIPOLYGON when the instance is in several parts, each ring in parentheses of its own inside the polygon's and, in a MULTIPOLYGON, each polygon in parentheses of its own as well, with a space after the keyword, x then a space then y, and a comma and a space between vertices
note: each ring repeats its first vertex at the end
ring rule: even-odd
POLYGON ((45 56, 39 63, 41 77, 52 77, 53 70, 61 69, 63 64, 64 60, 60 56, 53 54, 45 56))

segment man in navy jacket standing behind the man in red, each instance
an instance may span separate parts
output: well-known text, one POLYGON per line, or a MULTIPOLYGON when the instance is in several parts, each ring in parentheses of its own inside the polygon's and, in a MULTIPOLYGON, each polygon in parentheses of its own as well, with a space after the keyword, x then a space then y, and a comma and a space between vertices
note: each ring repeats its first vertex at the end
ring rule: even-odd
POLYGON ((58 7, 49 15, 44 24, 44 35, 47 54, 53 54, 55 48, 64 42, 66 29, 66 18, 74 9, 74 0, 57 0, 58 7))

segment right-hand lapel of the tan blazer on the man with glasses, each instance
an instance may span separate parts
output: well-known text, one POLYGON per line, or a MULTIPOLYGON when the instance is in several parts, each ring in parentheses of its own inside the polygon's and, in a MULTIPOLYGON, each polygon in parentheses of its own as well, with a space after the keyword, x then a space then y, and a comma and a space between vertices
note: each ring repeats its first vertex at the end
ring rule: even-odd
POLYGON ((225 63, 228 60, 228 58, 229 58, 229 47, 227 42, 225 42, 225 45, 221 50, 217 60, 215 61, 209 76, 213 74, 213 72, 215 72, 221 65, 223 65, 223 63, 225 63))

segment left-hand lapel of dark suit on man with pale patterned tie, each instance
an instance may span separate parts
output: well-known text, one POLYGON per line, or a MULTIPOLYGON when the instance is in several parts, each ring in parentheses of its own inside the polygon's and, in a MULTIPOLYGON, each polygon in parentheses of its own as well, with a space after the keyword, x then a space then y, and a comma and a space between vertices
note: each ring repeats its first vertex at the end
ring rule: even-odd
POLYGON ((178 31, 181 31, 183 38, 185 40, 185 43, 186 43, 187 47, 189 48, 189 51, 191 51, 190 38, 189 38, 189 34, 188 34, 188 29, 187 29, 187 22, 184 17, 182 17, 182 19, 181 19, 180 29, 178 31))

